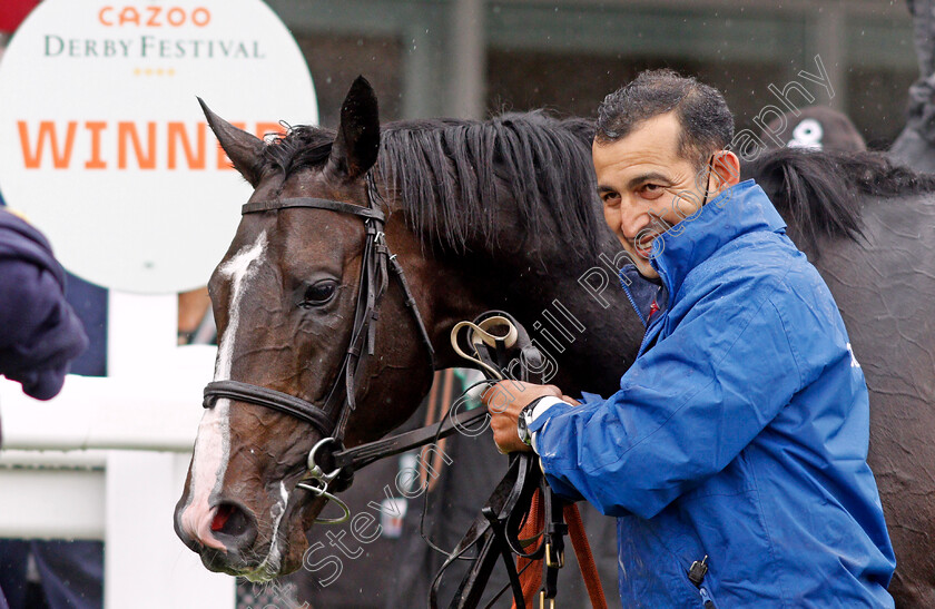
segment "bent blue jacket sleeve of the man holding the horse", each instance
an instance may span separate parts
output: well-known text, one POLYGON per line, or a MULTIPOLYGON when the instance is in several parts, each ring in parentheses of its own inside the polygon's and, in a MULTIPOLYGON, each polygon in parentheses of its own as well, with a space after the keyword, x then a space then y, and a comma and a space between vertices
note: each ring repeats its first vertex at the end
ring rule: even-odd
POLYGON ((801 385, 776 292, 721 285, 610 399, 537 420, 549 483, 604 514, 651 518, 727 466, 801 385))

